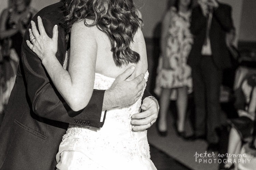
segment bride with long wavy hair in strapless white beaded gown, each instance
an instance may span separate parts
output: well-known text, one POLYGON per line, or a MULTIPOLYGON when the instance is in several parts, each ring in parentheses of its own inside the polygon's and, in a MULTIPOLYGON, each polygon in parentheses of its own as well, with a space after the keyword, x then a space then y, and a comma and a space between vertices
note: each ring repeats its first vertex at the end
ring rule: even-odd
MULTIPOLYGON (((147 80, 147 56, 141 19, 132 0, 73 0, 66 3, 64 22, 70 50, 61 66, 57 52, 57 26, 53 38, 38 17, 32 22, 27 44, 42 60, 54 85, 74 111, 84 108, 93 89, 108 89, 128 67, 129 79, 142 74, 147 80), (135 66, 135 67, 134 67, 135 66), (66 69, 65 69, 66 68, 66 69)), ((145 87, 144 87, 145 89, 145 87)), ((131 116, 140 112, 141 98, 106 113, 101 129, 70 124, 56 155, 60 170, 156 170, 150 160, 147 131, 132 131, 131 116)), ((103 119, 103 118, 102 118, 103 119)))

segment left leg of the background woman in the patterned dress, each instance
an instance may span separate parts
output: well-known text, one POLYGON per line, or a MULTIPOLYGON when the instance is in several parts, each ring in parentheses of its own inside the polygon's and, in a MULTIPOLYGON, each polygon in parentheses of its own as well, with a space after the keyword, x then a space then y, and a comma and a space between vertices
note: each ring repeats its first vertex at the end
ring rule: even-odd
POLYGON ((167 111, 170 104, 170 94, 171 89, 162 88, 161 97, 160 97, 160 110, 159 110, 159 118, 158 118, 158 130, 160 132, 167 131, 167 111))

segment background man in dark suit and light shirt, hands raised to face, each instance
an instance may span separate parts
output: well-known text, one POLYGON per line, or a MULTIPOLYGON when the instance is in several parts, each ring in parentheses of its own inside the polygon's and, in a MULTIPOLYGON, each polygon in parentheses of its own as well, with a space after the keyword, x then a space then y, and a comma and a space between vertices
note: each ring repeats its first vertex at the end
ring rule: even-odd
POLYGON ((196 108, 195 133, 190 139, 207 138, 208 149, 216 150, 220 125, 219 103, 222 70, 230 67, 226 33, 233 28, 231 7, 216 0, 199 0, 191 15, 194 45, 188 57, 192 69, 196 108))

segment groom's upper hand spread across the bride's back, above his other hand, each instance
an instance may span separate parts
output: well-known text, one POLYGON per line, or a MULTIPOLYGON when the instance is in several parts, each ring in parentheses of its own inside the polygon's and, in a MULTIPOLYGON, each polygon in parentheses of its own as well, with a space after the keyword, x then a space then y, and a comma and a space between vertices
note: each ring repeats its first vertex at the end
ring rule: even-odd
POLYGON ((130 66, 125 72, 118 75, 111 87, 105 91, 102 110, 116 106, 127 106, 140 98, 146 82, 144 74, 127 81, 134 70, 135 67, 130 66))

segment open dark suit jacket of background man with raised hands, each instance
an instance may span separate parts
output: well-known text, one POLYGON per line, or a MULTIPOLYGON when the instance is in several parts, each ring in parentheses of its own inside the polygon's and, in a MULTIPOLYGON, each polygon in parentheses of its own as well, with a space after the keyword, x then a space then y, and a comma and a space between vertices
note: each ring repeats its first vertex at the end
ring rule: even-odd
MULTIPOLYGON (((219 68, 231 67, 226 45, 226 33, 233 28, 231 7, 227 4, 218 3, 219 6, 213 12, 211 28, 209 32, 212 58, 219 68)), ((196 6, 191 14, 190 31, 194 35, 194 44, 190 51, 187 63, 191 67, 198 65, 201 60, 201 50, 204 44, 207 30, 207 17, 204 17, 200 6, 196 6)))

